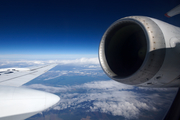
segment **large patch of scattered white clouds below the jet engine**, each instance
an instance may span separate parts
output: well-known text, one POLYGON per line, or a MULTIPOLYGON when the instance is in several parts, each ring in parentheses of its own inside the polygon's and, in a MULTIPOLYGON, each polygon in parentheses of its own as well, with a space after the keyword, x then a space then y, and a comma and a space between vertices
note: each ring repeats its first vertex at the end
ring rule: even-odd
POLYGON ((51 87, 35 84, 27 87, 60 94, 61 101, 53 108, 54 110, 86 108, 87 112, 100 111, 123 116, 126 119, 138 119, 143 111, 157 112, 167 109, 174 96, 172 93, 176 91, 155 88, 145 89, 149 92, 144 92, 143 88, 138 89, 113 80, 73 86, 51 87))

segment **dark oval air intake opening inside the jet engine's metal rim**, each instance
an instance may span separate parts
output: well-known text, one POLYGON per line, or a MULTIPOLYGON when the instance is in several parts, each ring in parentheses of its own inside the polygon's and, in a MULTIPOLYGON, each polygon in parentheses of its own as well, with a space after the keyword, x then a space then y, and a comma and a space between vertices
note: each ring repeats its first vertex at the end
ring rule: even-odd
POLYGON ((142 65, 147 41, 143 29, 132 21, 112 26, 106 36, 105 54, 107 63, 118 78, 135 73, 142 65))

